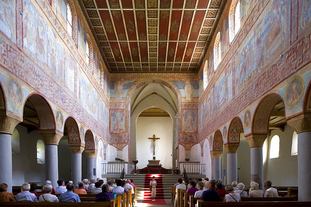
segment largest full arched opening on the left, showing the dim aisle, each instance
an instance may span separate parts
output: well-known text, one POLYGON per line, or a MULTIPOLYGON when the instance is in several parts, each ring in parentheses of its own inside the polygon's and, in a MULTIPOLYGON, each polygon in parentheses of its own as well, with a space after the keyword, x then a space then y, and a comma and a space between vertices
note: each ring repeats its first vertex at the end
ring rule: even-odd
POLYGON ((29 95, 23 107, 23 122, 15 129, 19 140, 15 136, 17 134, 13 134, 16 138, 12 139, 15 147, 15 152, 12 152, 12 161, 15 163, 12 165, 13 185, 25 182, 44 184, 47 178, 55 183, 56 176, 50 173, 53 159, 45 155, 53 149, 56 151, 60 136, 52 138, 51 134, 56 133, 55 119, 44 97, 39 94, 29 95))

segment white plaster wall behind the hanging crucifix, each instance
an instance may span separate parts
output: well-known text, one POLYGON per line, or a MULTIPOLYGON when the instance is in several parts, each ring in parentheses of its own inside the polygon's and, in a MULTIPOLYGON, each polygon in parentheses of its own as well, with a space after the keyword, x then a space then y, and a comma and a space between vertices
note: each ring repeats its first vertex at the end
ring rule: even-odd
POLYGON ((139 169, 146 167, 148 159, 152 159, 153 141, 148 138, 153 134, 160 137, 156 141, 156 158, 160 159, 162 167, 169 169, 172 166, 172 129, 173 122, 170 117, 138 117, 136 147, 139 169))

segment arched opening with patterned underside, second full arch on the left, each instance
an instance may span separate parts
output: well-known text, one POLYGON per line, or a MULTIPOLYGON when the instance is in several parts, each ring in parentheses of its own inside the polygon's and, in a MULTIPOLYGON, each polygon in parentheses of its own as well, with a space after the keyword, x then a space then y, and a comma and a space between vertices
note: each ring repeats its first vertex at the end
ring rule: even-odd
MULTIPOLYGON (((58 172, 59 178, 72 180, 77 186, 82 179, 82 168, 86 168, 86 162, 82 166, 82 152, 85 144, 81 142, 80 131, 76 120, 67 117, 64 126, 64 136, 58 144, 58 172)), ((84 155, 86 161, 86 155, 84 155)), ((85 175, 86 176, 86 172, 85 175)))

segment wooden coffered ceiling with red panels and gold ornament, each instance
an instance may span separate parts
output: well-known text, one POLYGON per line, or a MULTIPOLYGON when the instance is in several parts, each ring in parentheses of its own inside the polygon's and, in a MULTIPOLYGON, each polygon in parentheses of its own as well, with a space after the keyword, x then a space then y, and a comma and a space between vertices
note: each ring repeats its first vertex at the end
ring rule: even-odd
POLYGON ((226 0, 79 0, 110 73, 197 73, 226 0))

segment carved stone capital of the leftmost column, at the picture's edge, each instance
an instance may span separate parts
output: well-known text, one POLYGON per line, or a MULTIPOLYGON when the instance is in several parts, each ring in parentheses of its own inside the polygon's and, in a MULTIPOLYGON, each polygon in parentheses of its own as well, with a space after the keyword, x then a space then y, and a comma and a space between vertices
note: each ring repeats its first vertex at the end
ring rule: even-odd
POLYGON ((4 113, 5 114, 0 115, 0 133, 12 135, 16 125, 20 123, 23 119, 12 113, 10 113, 12 116, 8 116, 7 115, 8 112, 4 113))

